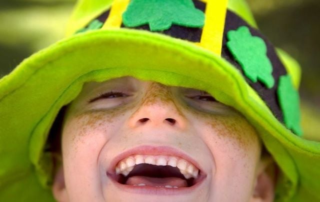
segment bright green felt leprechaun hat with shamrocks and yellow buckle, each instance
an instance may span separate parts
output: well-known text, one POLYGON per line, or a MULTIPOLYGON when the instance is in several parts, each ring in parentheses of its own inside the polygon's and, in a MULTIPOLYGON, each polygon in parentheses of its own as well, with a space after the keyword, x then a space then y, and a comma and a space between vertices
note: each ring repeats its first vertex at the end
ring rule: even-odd
POLYGON ((79 0, 65 39, 0 80, 0 201, 53 201, 51 126, 88 81, 133 76, 201 89, 256 128, 275 201, 320 201, 320 144, 300 128, 300 69, 242 0, 79 0))

